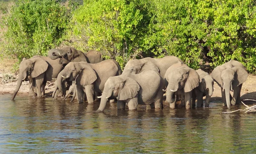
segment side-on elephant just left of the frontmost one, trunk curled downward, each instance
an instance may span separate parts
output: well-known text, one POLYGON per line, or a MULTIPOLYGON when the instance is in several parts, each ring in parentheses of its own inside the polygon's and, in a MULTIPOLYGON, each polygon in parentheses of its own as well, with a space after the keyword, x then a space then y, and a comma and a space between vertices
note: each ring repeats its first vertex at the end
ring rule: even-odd
POLYGON ((76 93, 79 103, 84 102, 84 93, 89 104, 93 104, 93 92, 100 96, 104 90, 104 84, 111 76, 119 76, 122 73, 119 64, 112 59, 90 64, 87 62, 70 62, 59 73, 57 85, 62 92, 63 78, 76 81, 76 93))

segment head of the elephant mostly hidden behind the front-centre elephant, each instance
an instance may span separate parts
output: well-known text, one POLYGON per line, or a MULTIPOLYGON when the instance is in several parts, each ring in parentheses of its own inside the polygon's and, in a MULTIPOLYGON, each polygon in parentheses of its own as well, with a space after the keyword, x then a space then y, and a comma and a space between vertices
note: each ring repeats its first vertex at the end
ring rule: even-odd
POLYGON ((125 65, 123 74, 138 74, 143 72, 144 70, 154 70, 156 72, 159 72, 159 68, 157 67, 157 65, 155 65, 152 61, 149 61, 148 58, 143 58, 129 60, 128 63, 125 65))

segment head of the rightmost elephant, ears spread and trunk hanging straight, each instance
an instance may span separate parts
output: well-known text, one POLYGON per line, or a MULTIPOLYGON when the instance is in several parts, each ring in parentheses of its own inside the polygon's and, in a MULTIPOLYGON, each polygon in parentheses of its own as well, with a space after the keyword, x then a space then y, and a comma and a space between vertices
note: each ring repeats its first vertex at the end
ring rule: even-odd
POLYGON ((215 67, 211 73, 214 81, 225 91, 227 108, 231 109, 230 105, 230 90, 244 83, 247 79, 247 71, 244 66, 234 60, 215 67))

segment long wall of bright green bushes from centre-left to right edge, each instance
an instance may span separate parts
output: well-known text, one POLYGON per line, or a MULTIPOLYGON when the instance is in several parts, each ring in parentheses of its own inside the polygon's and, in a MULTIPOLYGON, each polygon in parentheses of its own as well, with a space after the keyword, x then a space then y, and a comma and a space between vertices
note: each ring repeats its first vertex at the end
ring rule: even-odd
POLYGON ((122 67, 130 58, 175 55, 194 69, 203 59, 212 67, 235 59, 255 73, 255 5, 251 0, 84 0, 70 33, 122 67))

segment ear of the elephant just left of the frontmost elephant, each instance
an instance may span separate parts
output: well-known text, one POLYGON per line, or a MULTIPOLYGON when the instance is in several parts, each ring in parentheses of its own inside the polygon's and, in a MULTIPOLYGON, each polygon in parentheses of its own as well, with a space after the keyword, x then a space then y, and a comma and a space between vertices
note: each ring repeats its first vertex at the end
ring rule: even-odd
POLYGON ((86 86, 92 84, 94 81, 96 81, 96 79, 97 75, 95 71, 90 66, 86 66, 76 77, 76 84, 86 86))

